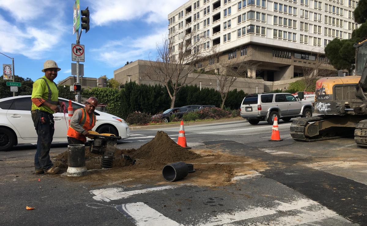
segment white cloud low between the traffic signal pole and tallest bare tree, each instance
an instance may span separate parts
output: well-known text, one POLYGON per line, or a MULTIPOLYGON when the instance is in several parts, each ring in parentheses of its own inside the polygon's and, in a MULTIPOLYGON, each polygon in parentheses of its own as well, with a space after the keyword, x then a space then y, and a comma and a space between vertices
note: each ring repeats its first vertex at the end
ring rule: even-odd
MULTIPOLYGON (((164 27, 156 33, 138 38, 124 38, 107 42, 98 49, 92 49, 96 59, 102 60, 111 67, 122 67, 126 61, 147 60, 150 52, 156 52, 156 44, 162 42, 167 29, 164 27), (113 49, 113 51, 106 51, 113 49)), ((152 59, 156 56, 151 55, 152 59)))

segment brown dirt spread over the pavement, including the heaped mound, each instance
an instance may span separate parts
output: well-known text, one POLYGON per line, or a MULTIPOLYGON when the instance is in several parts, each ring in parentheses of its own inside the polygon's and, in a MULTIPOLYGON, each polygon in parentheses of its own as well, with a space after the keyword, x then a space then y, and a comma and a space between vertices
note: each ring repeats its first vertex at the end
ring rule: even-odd
MULTIPOLYGON (((168 163, 183 161, 193 163, 195 173, 173 183, 190 183, 201 186, 223 186, 232 184, 237 175, 251 174, 254 170, 266 168, 266 163, 247 157, 219 154, 212 150, 188 150, 176 144, 163 131, 158 131, 155 138, 138 149, 117 149, 111 169, 101 169, 101 155, 92 154, 86 148, 87 175, 83 177, 67 177, 68 180, 92 182, 92 186, 103 184, 171 184, 164 180, 161 170, 168 163), (128 155, 136 163, 124 158, 128 155)), ((67 168, 68 152, 55 157, 56 165, 67 168)))

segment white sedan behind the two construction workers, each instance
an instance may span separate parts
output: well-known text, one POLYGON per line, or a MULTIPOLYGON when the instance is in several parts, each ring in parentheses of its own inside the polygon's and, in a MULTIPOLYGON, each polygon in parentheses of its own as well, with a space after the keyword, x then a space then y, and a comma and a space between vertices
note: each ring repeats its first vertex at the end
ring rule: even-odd
MULTIPOLYGON (((0 99, 0 151, 11 151, 17 144, 37 143, 37 133, 34 129, 30 109, 31 96, 18 96, 0 99)), ((69 100, 59 98, 66 107, 69 100)), ((84 108, 84 105, 73 101, 73 108, 84 108)), ((122 139, 130 137, 126 122, 112 114, 94 111, 97 122, 92 130, 99 133, 112 133, 122 139)), ((68 113, 55 113, 55 133, 52 142, 67 142, 66 133, 69 127, 68 113)))

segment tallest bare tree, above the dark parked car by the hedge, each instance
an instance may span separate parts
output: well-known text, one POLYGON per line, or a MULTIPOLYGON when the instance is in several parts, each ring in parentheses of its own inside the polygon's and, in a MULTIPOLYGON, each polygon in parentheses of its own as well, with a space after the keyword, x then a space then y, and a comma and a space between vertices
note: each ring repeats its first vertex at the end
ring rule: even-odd
MULTIPOLYGON (((195 27, 195 26, 194 26, 195 27)), ((161 83, 167 88, 174 108, 176 95, 183 86, 194 82, 209 64, 209 37, 202 30, 186 28, 162 38, 157 44, 158 56, 143 72, 150 80, 161 83), (175 40, 179 40, 178 44, 175 40), (200 68, 200 70, 199 70, 200 68), (197 74, 193 74, 193 73, 197 74), (189 75, 192 76, 189 78, 189 75)))

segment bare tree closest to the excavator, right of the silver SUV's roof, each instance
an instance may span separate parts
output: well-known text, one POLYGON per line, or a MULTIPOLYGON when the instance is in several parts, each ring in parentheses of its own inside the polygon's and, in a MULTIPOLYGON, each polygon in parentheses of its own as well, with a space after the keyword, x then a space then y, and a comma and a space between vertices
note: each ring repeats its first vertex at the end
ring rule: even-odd
POLYGON ((313 85, 314 81, 320 77, 334 76, 335 71, 325 67, 326 58, 320 53, 311 54, 311 57, 315 57, 314 63, 302 66, 302 81, 305 84, 306 91, 310 86, 313 85))

